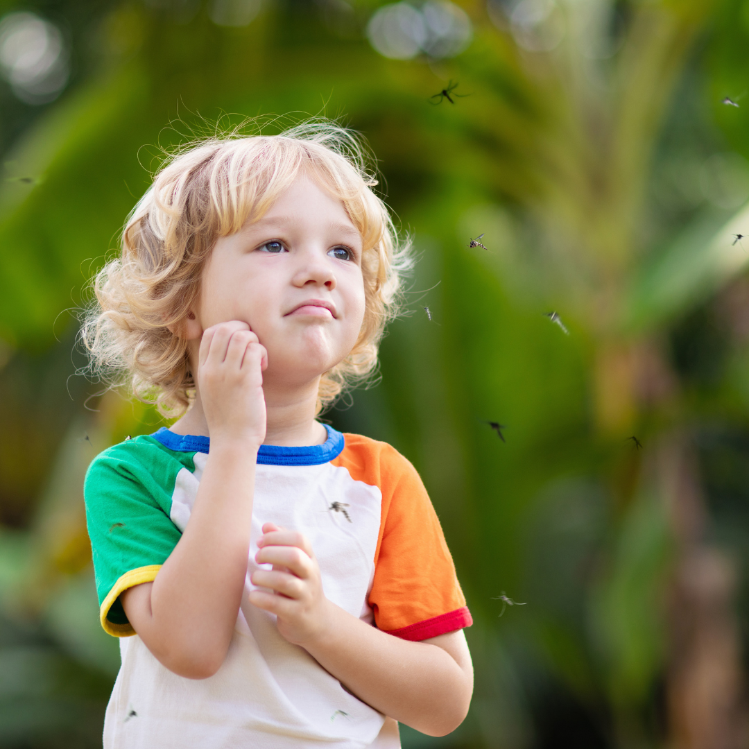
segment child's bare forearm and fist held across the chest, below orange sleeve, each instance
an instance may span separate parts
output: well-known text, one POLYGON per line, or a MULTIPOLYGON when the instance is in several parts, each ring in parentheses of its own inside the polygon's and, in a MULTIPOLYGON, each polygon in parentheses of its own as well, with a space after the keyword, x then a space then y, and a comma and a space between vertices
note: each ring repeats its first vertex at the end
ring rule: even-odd
POLYGON ((312 548, 300 533, 271 523, 255 556, 273 570, 252 573, 249 600, 278 616, 279 632, 302 646, 360 700, 430 736, 464 720, 473 667, 462 631, 424 642, 401 640, 366 624, 325 598, 312 548), (280 595, 279 595, 280 594, 280 595))

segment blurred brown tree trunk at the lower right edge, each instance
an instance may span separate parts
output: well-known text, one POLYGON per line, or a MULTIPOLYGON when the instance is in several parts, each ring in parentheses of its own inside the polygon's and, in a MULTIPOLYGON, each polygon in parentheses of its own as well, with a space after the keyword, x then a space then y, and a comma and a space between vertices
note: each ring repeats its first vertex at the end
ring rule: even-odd
POLYGON ((688 437, 668 436, 658 460, 661 496, 676 541, 667 622, 668 745, 742 749, 749 745, 749 733, 733 611, 734 567, 704 540, 706 512, 688 437))

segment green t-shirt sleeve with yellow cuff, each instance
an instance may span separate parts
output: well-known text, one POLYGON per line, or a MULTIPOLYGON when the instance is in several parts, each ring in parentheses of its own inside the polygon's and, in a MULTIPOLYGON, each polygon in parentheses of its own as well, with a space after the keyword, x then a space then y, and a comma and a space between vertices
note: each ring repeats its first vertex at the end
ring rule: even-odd
MULTIPOLYGON (((191 462, 191 455, 185 457, 191 462)), ((100 620, 115 637, 136 634, 119 600, 121 592, 154 580, 181 538, 169 513, 184 467, 156 440, 136 437, 101 453, 88 469, 86 522, 100 620)))

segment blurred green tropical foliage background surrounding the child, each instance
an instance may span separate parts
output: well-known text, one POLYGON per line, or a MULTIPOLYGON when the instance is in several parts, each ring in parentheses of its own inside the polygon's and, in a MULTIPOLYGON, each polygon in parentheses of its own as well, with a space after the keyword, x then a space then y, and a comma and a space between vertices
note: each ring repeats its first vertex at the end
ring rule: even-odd
POLYGON ((475 619, 404 748, 749 746, 749 1, 5 0, 0 78, 1 749, 100 745, 118 669, 82 479, 161 422, 76 374, 87 280, 163 149, 309 115, 419 258, 325 418, 416 464, 475 619))

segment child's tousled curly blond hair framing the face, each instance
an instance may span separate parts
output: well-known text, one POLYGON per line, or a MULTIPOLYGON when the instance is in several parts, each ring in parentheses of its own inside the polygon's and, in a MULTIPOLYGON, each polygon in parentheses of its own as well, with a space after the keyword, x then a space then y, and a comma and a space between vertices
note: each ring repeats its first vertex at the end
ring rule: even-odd
POLYGON ((195 380, 180 332, 216 240, 260 219, 305 174, 342 201, 363 239, 363 324, 348 357, 321 377, 318 413, 366 379, 410 267, 409 243, 398 239, 372 192, 368 156, 357 134, 320 119, 277 136, 213 135, 169 155, 128 216, 119 256, 92 280, 94 300, 81 329, 91 372, 157 404, 165 416, 184 413, 195 380))

